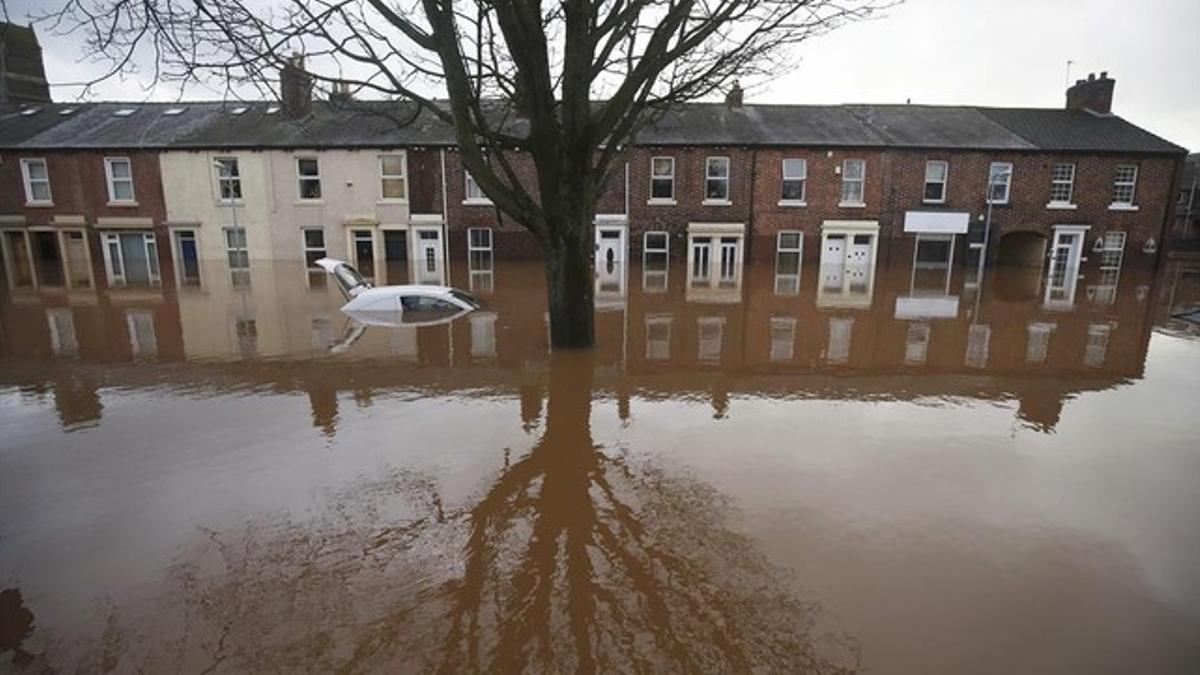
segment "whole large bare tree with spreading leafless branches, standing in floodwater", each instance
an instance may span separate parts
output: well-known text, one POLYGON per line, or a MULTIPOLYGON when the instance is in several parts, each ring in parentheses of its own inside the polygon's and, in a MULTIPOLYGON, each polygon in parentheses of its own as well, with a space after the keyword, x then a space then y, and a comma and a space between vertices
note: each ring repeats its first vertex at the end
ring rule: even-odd
POLYGON ((592 225, 640 129, 734 78, 788 68, 791 47, 877 0, 66 0, 109 74, 152 59, 181 86, 270 88, 293 52, 325 86, 418 102, 462 163, 541 243, 551 341, 593 342, 592 225), (139 53, 145 53, 139 56, 139 53), (527 155, 532 172, 518 171, 527 155), (530 175, 532 174, 532 175, 530 175))

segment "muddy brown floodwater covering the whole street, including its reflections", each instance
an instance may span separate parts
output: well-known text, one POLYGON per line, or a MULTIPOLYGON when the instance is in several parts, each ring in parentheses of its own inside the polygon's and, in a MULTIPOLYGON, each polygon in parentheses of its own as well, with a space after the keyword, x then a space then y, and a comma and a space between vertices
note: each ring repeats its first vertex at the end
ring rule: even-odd
POLYGON ((1200 669, 1195 268, 461 267, 4 288, 0 670, 1200 669))

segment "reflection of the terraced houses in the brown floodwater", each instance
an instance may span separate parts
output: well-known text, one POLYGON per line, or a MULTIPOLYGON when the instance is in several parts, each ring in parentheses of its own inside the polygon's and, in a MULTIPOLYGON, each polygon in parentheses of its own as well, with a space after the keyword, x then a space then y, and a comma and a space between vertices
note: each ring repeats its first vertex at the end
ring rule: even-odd
MULTIPOLYGON (((649 270, 614 265, 614 277, 598 270, 596 382, 618 396, 625 418, 636 407, 632 392, 702 394, 718 414, 738 393, 949 395, 1015 399, 1022 419, 1049 429, 1070 395, 1141 376, 1152 322, 1144 273, 1118 274, 1103 301, 1076 294, 1046 306, 1044 288, 1012 294, 1038 270, 994 269, 977 293, 965 288, 973 273, 942 262, 940 239, 922 241, 910 263, 869 265, 864 282, 844 282, 844 293, 832 295, 824 265, 786 259, 738 269, 725 287, 720 273, 697 287, 694 270, 656 261, 649 270), (781 275, 796 277, 784 293, 781 275), (630 286, 629 277, 643 283, 630 286)), ((203 282, 178 293, 8 291, 5 381, 52 390, 64 424, 100 416, 91 362, 130 364, 114 363, 103 377, 131 386, 166 378, 217 394, 258 386, 305 392, 326 435, 336 432, 341 396, 370 405, 379 389, 511 390, 522 393, 523 410, 535 407, 529 383, 548 353, 538 263, 488 269, 496 276, 485 309, 462 321, 397 329, 355 325, 338 311, 336 288, 308 283, 299 262, 252 261, 245 279, 220 261, 203 261, 199 271, 203 282), (166 360, 191 363, 158 370, 166 360)), ((452 283, 467 286, 481 270, 451 271, 452 283)), ((1108 279, 1093 275, 1076 287, 1108 279)), ((1056 287, 1054 275, 1042 282, 1056 287)))

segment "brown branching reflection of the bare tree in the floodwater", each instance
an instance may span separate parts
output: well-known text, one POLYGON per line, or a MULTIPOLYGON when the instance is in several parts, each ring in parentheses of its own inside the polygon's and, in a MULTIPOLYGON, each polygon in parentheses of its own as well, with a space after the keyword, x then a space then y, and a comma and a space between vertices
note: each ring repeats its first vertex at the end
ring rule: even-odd
MULTIPOLYGON (((212 533, 173 574, 178 639, 133 663, 214 670, 836 673, 817 607, 731 532, 710 488, 589 430, 592 364, 556 354, 546 428, 468 510, 410 473, 311 522, 212 533)), ((134 646, 136 649, 136 646, 134 646)))

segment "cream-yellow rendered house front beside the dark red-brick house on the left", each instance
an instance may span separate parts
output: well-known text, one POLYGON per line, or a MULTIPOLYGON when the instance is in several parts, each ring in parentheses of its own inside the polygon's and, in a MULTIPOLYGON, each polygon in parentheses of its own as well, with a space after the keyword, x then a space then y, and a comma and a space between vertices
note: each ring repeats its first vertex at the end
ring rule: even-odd
MULTIPOLYGON (((200 257, 226 259, 222 228, 246 228, 250 258, 276 256, 270 232, 271 191, 268 189, 266 154, 260 151, 167 151, 158 155, 167 222, 172 227, 196 226, 200 257), (234 204, 217 199, 217 157, 236 157, 241 175, 241 199, 234 204), (234 214, 236 210, 236 214, 234 214)), ((174 243, 172 243, 174 252, 174 243)))

